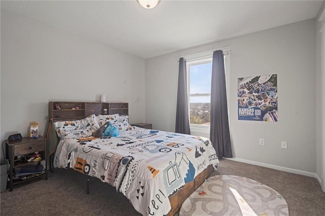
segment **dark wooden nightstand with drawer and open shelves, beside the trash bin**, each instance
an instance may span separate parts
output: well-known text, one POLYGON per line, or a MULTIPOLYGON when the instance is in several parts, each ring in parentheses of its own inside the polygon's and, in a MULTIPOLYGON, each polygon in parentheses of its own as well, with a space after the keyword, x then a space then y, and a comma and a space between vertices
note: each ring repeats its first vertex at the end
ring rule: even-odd
POLYGON ((17 141, 6 140, 6 147, 7 158, 10 163, 10 191, 13 190, 13 185, 41 177, 44 174, 45 180, 47 180, 47 138, 39 136, 36 139, 24 137, 17 141), (40 161, 27 162, 24 160, 19 161, 15 158, 17 156, 28 156, 35 152, 41 155, 42 159, 40 161), (41 162, 45 162, 45 170, 41 168, 41 162), (20 176, 16 175, 15 171, 20 171, 20 176))

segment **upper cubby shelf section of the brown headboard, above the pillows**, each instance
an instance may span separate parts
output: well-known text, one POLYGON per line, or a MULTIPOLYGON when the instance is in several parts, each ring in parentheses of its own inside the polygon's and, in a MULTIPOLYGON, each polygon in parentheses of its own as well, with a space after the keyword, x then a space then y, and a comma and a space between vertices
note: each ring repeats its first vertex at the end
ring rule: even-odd
POLYGON ((49 119, 55 121, 79 120, 89 115, 120 114, 128 115, 128 103, 125 102, 78 102, 78 101, 50 101, 49 119))

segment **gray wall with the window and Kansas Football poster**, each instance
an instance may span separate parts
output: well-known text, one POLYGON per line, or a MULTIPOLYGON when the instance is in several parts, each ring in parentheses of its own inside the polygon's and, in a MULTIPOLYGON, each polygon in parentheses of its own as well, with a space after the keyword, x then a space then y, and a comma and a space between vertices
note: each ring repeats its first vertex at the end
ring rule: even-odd
POLYGON ((178 59, 231 46, 230 126, 234 157, 285 170, 316 172, 315 19, 146 59, 146 121, 175 130, 178 59), (237 79, 278 75, 278 122, 239 121, 237 79), (265 146, 258 139, 265 138, 265 146), (280 148, 281 140, 288 149, 280 148))

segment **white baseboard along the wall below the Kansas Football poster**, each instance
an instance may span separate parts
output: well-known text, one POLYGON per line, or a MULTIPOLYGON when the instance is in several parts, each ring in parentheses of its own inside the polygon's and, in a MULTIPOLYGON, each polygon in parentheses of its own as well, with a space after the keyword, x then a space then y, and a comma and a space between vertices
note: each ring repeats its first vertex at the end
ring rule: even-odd
POLYGON ((300 174, 300 175, 306 175, 309 177, 314 177, 317 179, 318 183, 321 185, 321 179, 319 178, 319 176, 316 173, 313 173, 313 172, 307 172, 307 171, 303 171, 303 170, 299 170, 299 169, 292 169, 292 168, 288 168, 288 167, 276 166, 276 165, 272 165, 272 164, 250 161, 250 160, 245 160, 245 159, 240 159, 240 158, 224 158, 224 159, 242 162, 242 163, 248 163, 248 164, 252 164, 252 165, 256 165, 256 166, 263 166, 263 167, 267 167, 267 168, 271 168, 271 169, 276 169, 276 170, 300 174))

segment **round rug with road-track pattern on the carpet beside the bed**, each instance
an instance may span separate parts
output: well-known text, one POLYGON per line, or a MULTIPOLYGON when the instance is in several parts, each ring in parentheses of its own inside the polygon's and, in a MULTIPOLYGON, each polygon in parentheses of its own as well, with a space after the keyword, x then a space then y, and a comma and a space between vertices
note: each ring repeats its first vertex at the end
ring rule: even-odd
POLYGON ((182 204, 179 215, 289 215, 272 188, 235 175, 209 177, 182 204))

